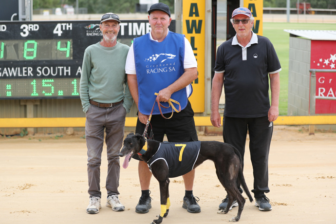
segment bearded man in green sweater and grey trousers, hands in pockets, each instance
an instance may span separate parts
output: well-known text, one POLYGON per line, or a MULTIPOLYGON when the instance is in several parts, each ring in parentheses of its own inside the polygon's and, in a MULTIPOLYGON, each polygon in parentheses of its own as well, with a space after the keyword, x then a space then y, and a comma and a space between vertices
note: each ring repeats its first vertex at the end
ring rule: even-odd
POLYGON ((119 151, 124 138, 126 113, 133 99, 127 84, 125 63, 129 46, 117 42, 120 20, 107 13, 100 21, 103 40, 84 52, 80 77, 80 99, 86 113, 85 135, 88 148, 88 178, 90 203, 86 209, 96 214, 101 208, 100 164, 106 131, 108 173, 107 203, 113 211, 123 211, 119 200, 119 151))

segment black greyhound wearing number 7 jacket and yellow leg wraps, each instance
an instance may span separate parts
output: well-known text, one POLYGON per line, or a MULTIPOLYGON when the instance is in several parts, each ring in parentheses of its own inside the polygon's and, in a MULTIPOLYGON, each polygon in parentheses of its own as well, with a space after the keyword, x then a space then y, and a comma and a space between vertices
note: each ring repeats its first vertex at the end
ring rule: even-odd
MULTIPOLYGON (((186 145, 188 143, 170 143, 175 144, 175 146, 179 146, 179 158, 175 158, 175 160, 182 160, 182 154, 187 153, 188 150, 186 145), (184 147, 183 147, 184 145, 184 147), (181 147, 182 146, 182 147, 181 147)), ((127 168, 129 161, 133 154, 138 153, 140 159, 147 162, 149 167, 151 168, 153 176, 159 181, 160 185, 160 200, 161 200, 161 213, 157 220, 153 220, 151 224, 158 224, 162 223, 163 218, 167 217, 170 201, 169 201, 169 177, 174 177, 171 174, 171 170, 168 167, 169 162, 167 163, 167 159, 157 159, 154 162, 151 161, 154 154, 161 150, 162 143, 155 141, 155 140, 146 140, 140 134, 133 134, 130 133, 124 140, 124 146, 121 149, 119 156, 125 156, 124 160, 124 168, 127 168)), ((238 151, 238 149, 234 148, 233 146, 217 141, 202 141, 200 142, 200 148, 198 155, 196 155, 193 165, 191 165, 191 169, 198 167, 201 165, 205 160, 212 160, 215 163, 216 174, 225 188, 229 201, 224 210, 219 211, 220 214, 226 214, 229 211, 230 206, 232 205, 234 199, 237 200, 239 205, 238 207, 238 214, 236 217, 232 218, 230 222, 237 222, 239 221, 243 207, 245 204, 245 198, 239 192, 237 187, 237 183, 241 184, 245 193, 247 194, 250 202, 253 202, 253 198, 246 186, 245 179, 243 176, 243 168, 242 168, 242 158, 238 151)), ((171 149, 170 149, 171 150, 171 149)), ((185 158, 185 157, 184 157, 185 158)), ((188 157, 187 157, 188 158, 188 157)), ((180 171, 179 168, 175 167, 177 171, 180 171)), ((190 171, 190 170, 189 170, 190 171)), ((186 171, 188 172, 188 171, 186 171)), ((183 173, 185 174, 185 173, 183 173)), ((183 175, 179 174, 179 175, 183 175)), ((176 175, 175 175, 176 176, 176 175)))

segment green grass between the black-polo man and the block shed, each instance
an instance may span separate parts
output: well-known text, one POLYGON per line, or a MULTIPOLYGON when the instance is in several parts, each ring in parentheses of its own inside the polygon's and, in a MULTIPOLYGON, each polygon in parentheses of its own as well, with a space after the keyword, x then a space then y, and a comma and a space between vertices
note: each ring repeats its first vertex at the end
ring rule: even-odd
POLYGON ((287 30, 335 30, 331 23, 278 23, 264 22, 262 36, 271 40, 281 64, 279 114, 287 115, 288 103, 288 63, 289 63, 289 33, 287 30))

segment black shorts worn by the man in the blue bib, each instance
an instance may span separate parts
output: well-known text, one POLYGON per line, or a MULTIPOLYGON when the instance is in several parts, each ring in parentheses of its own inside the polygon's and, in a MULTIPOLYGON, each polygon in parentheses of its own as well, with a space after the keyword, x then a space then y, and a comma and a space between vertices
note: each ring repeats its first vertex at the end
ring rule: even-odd
MULTIPOLYGON (((170 113, 164 114, 166 117, 170 116, 170 113)), ((139 121, 136 123, 135 133, 143 134, 146 125, 139 121)), ((153 131, 153 139, 159 142, 163 142, 163 138, 166 134, 168 142, 192 142, 198 141, 197 131, 194 121, 194 111, 191 108, 191 104, 188 101, 187 107, 181 112, 174 112, 170 119, 165 119, 161 114, 152 115, 147 133, 153 131)), ((133 156, 134 159, 140 160, 138 155, 133 156)))

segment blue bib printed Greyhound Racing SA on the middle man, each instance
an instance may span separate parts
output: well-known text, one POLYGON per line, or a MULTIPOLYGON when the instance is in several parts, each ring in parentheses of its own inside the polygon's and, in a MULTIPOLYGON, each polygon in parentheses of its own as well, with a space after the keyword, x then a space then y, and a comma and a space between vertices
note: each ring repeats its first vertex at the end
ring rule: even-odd
MULTIPOLYGON (((175 82, 184 73, 184 35, 168 31, 162 42, 150 40, 149 33, 134 38, 133 42, 136 78, 138 82, 138 110, 149 115, 156 95, 175 82)), ((170 96, 185 109, 188 102, 187 90, 183 88, 170 96)), ((167 102, 161 102, 168 107, 167 102)), ((174 103, 173 103, 174 104, 174 103)), ((178 105, 174 105, 178 108, 178 105)), ((162 113, 171 113, 171 107, 161 108, 162 113)), ((160 114, 155 104, 152 114, 160 114)))

